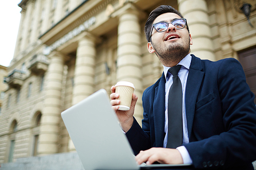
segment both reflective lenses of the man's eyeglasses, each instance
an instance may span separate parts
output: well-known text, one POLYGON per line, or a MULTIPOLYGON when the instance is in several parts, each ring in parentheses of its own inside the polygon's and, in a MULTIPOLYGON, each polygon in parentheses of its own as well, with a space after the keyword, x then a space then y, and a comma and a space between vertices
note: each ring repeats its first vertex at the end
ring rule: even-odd
MULTIPOLYGON (((172 23, 176 29, 183 29, 186 25, 186 22, 183 19, 175 19, 170 23, 172 23)), ((154 27, 157 32, 164 32, 168 28, 168 22, 158 22, 154 27)))

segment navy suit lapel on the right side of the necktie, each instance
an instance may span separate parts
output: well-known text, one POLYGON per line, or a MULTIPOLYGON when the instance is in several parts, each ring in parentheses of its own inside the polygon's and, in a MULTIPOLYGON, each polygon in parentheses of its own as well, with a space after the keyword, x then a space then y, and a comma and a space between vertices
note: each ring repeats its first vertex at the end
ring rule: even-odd
POLYGON ((187 117, 187 131, 188 138, 191 137, 193 120, 195 115, 195 107, 199 89, 204 77, 204 71, 201 63, 201 59, 192 56, 191 64, 189 67, 187 85, 186 85, 186 117, 187 117))

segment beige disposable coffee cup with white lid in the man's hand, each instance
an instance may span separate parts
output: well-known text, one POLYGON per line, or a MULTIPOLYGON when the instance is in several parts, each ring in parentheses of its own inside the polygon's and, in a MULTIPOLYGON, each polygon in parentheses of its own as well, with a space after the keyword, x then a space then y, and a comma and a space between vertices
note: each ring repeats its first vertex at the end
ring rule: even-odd
POLYGON ((117 82, 115 85, 116 93, 119 94, 119 98, 116 98, 120 100, 119 109, 118 110, 130 110, 132 99, 133 99, 133 92, 135 90, 135 87, 133 83, 130 82, 117 82))

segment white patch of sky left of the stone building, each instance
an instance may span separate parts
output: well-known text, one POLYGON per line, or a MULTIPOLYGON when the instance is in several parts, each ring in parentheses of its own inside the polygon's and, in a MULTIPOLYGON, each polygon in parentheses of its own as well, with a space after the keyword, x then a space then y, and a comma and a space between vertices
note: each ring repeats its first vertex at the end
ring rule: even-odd
POLYGON ((1 2, 0 10, 0 65, 9 66, 13 59, 18 34, 21 0, 6 0, 1 2))

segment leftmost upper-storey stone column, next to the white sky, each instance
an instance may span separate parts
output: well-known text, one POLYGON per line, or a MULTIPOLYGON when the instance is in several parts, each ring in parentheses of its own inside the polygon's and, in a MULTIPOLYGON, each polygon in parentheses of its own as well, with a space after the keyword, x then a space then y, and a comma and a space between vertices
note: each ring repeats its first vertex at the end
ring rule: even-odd
POLYGON ((22 33, 22 44, 20 44, 20 50, 24 51, 25 48, 27 47, 27 42, 28 42, 28 32, 30 29, 30 20, 31 20, 31 12, 32 12, 32 5, 34 5, 34 3, 28 3, 27 4, 27 10, 26 10, 26 16, 25 16, 25 21, 24 21, 24 27, 23 27, 23 33, 22 33))

